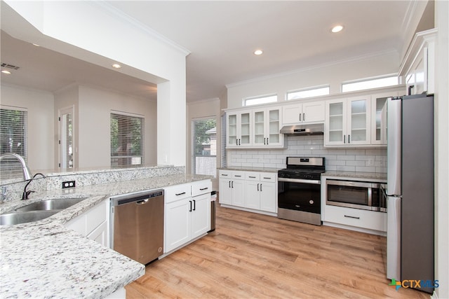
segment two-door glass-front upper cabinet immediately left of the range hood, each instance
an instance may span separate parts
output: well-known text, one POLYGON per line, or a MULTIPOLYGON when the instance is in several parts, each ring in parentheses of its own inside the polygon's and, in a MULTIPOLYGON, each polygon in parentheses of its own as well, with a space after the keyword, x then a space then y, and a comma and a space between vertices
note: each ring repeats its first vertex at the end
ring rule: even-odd
POLYGON ((283 146, 281 130, 281 109, 266 108, 253 110, 253 146, 279 147, 283 146))

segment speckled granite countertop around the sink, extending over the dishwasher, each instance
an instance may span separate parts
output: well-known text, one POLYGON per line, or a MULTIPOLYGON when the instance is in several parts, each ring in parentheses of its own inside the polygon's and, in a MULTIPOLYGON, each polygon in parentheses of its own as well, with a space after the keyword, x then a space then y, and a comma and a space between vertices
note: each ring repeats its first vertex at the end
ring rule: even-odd
POLYGON ((104 298, 145 274, 145 265, 65 227, 111 195, 210 179, 177 174, 32 193, 30 200, 0 204, 0 214, 40 200, 88 197, 32 223, 1 225, 1 298, 104 298))

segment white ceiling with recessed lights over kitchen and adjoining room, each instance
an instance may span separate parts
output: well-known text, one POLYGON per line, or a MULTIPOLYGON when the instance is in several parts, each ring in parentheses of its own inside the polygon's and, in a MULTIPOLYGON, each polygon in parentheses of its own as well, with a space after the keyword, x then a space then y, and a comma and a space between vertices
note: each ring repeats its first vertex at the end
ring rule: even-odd
MULTIPOLYGON (((413 1, 105 1, 174 41, 187 56, 187 101, 225 86, 351 57, 403 52, 413 1), (333 25, 344 30, 331 34, 333 25), (264 50, 253 55, 257 48, 264 50)), ((2 23, 3 23, 2 12, 2 23)), ((2 24, 2 29, 4 28, 2 24)), ((20 70, 6 83, 55 92, 72 83, 155 98, 147 81, 1 34, 1 62, 20 70)), ((354 78, 355 79, 355 78, 354 78)))

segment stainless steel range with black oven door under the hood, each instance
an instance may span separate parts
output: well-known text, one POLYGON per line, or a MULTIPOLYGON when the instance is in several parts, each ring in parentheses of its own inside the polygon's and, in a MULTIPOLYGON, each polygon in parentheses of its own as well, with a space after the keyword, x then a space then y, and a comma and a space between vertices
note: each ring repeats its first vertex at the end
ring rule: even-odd
POLYGON ((324 158, 287 157, 278 172, 278 218, 321 225, 324 158))

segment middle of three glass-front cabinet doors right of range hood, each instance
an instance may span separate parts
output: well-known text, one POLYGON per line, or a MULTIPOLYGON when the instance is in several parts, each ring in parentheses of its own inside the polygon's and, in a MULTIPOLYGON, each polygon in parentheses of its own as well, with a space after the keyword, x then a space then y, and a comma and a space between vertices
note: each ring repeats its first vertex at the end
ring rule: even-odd
POLYGON ((348 105, 347 144, 370 144, 370 99, 351 98, 348 105))

